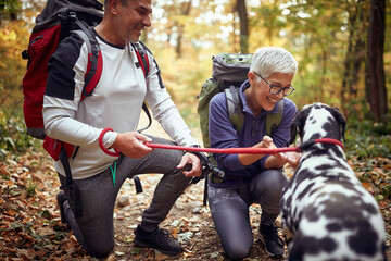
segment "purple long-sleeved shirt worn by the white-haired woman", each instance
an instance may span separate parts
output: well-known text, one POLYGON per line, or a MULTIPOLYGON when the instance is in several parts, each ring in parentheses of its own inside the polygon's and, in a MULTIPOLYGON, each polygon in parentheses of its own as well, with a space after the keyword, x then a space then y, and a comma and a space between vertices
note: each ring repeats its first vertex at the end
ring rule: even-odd
MULTIPOLYGON (((250 87, 245 80, 240 87, 240 99, 243 104, 244 125, 239 135, 234 128, 228 117, 227 101, 224 92, 214 96, 210 103, 210 140, 212 148, 238 148, 252 147, 262 141, 266 135, 266 115, 277 113, 277 105, 272 111, 262 111, 255 117, 248 107, 244 90, 250 87)), ((277 148, 288 147, 290 138, 290 123, 297 112, 295 104, 288 98, 283 98, 283 115, 281 123, 272 134, 272 138, 277 148)), ((243 166, 239 161, 238 154, 214 154, 218 169, 223 170, 229 181, 224 184, 213 184, 215 187, 235 187, 239 178, 250 179, 262 171, 266 170, 265 161, 269 156, 265 156, 254 163, 243 166)))

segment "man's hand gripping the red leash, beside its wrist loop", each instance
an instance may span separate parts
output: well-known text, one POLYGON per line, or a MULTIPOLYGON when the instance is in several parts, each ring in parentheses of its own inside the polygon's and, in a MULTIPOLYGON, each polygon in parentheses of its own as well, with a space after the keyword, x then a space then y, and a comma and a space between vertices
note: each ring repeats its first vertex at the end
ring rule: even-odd
POLYGON ((142 158, 153 151, 153 149, 144 146, 146 142, 151 142, 152 139, 137 132, 128 132, 117 134, 117 137, 112 146, 121 151, 124 156, 129 158, 142 158))

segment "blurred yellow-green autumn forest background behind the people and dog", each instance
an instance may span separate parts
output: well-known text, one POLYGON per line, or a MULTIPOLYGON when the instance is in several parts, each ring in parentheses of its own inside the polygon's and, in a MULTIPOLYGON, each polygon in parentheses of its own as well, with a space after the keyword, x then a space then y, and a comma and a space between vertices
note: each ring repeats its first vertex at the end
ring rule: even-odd
MULTIPOLYGON (((2 159, 35 142, 25 138, 22 79, 27 62, 21 52, 45 3, 0 1, 2 159)), ((297 90, 290 96, 298 108, 316 101, 339 107, 354 130, 348 133, 353 153, 390 157, 390 0, 159 0, 142 41, 197 137, 197 96, 212 73, 212 57, 279 46, 299 62, 292 83, 297 90)))

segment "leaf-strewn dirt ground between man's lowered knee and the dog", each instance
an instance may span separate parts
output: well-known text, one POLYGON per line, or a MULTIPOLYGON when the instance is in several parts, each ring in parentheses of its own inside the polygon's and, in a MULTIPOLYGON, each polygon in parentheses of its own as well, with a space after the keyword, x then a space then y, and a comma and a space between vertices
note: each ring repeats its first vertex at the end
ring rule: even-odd
MULTIPOLYGON (((121 260, 228 260, 224 257, 217 233, 207 206, 203 206, 204 181, 191 185, 178 199, 168 217, 162 223, 163 228, 169 231, 182 244, 185 251, 176 257, 168 257, 152 249, 134 247, 134 229, 141 221, 141 213, 152 198, 154 184, 160 175, 142 176, 143 195, 135 195, 133 181, 128 181, 118 198, 129 197, 130 204, 115 210, 115 251, 112 258, 121 260), (130 195, 130 196, 129 196, 130 195)), ((275 260, 264 251, 264 246, 257 240, 257 225, 261 208, 255 204, 250 208, 254 245, 245 260, 275 260)), ((109 258, 110 259, 110 258, 109 258)))

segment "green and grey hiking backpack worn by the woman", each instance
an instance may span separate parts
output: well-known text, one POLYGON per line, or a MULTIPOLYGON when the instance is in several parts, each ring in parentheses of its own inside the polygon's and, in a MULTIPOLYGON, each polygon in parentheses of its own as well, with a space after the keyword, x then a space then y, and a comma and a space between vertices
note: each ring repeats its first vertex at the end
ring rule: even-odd
MULTIPOLYGON (((244 124, 243 105, 239 99, 239 88, 248 79, 253 54, 219 53, 212 58, 212 78, 202 86, 199 95, 198 113, 202 140, 205 148, 210 148, 209 138, 209 104, 211 99, 220 91, 225 91, 229 120, 239 134, 244 124)), ((266 133, 272 135, 273 130, 280 124, 283 114, 283 100, 278 102, 278 113, 266 116, 266 133)))

